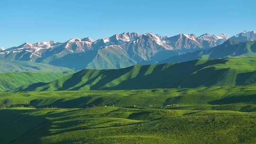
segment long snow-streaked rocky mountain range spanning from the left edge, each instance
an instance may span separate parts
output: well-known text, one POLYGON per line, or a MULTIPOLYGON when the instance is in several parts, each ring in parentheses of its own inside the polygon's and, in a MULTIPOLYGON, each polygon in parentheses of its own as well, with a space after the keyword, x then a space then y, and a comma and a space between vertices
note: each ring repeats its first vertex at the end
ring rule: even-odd
POLYGON ((24 43, 0 51, 9 60, 34 61, 72 69, 116 69, 133 64, 158 63, 174 55, 209 49, 229 37, 204 34, 159 36, 153 33, 122 33, 109 38, 92 40, 72 38, 64 43, 54 41, 24 43))

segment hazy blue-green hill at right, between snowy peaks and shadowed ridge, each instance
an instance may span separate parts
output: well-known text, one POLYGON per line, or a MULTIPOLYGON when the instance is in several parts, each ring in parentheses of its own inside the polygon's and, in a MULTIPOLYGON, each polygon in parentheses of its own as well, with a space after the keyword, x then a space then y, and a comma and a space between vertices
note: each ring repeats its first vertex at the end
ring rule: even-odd
POLYGON ((208 50, 200 50, 193 53, 172 56, 159 63, 185 62, 196 59, 214 59, 227 57, 253 57, 256 56, 256 41, 236 42, 227 40, 224 44, 210 48, 208 50))

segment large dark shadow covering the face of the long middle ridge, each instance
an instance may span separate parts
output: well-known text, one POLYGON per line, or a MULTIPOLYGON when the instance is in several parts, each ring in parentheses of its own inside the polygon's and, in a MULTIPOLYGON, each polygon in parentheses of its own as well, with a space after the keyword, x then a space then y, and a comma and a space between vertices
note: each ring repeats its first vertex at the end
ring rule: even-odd
MULTIPOLYGON (((214 67, 205 68, 214 64, 224 64, 228 60, 209 60, 205 63, 198 64, 201 60, 194 60, 185 63, 176 64, 160 64, 156 65, 153 72, 146 74, 150 65, 143 65, 138 71, 135 78, 121 81, 118 85, 108 88, 102 88, 106 79, 110 79, 111 75, 107 75, 95 85, 91 86, 91 90, 132 90, 132 89, 154 89, 154 88, 194 88, 202 85, 210 86, 217 83, 218 76, 223 75, 228 69, 215 70, 214 67), (202 69, 205 68, 205 69, 202 69), (202 69, 202 70, 201 70, 202 69), (197 72, 198 70, 201 70, 197 72), (193 73, 197 72, 197 73, 193 73), (110 78, 109 78, 110 77, 110 78), (209 81, 210 80, 210 81, 209 81)), ((114 79, 111 79, 114 80, 114 79)))

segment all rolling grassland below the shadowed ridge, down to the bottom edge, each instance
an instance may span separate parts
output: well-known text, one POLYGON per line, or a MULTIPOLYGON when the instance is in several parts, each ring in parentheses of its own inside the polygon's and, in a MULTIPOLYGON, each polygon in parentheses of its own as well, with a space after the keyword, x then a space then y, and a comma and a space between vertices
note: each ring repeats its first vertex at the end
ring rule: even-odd
POLYGON ((0 144, 256 141, 255 85, 0 92, 0 107, 0 144))

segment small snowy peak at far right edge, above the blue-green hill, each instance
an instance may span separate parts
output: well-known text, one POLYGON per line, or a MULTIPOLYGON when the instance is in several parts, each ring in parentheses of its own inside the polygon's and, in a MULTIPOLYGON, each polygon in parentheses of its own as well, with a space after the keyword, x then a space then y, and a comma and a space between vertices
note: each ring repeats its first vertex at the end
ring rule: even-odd
POLYGON ((238 42, 249 42, 256 40, 256 31, 244 31, 236 36, 230 37, 230 39, 238 42))

